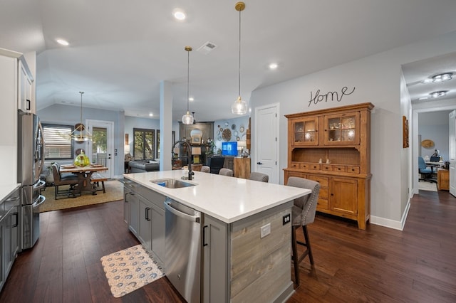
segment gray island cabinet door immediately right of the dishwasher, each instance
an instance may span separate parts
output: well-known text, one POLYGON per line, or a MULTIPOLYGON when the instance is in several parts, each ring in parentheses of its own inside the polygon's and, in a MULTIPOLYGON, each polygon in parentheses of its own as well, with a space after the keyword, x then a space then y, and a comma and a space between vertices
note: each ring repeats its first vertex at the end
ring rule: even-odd
POLYGON ((202 302, 229 302, 227 225, 204 215, 202 302))

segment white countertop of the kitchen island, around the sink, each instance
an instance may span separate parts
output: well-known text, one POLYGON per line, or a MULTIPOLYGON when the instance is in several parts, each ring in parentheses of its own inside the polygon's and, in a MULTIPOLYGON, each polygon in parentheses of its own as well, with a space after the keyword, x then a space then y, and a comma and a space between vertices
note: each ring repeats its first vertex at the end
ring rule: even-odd
POLYGON ((150 180, 181 179, 182 170, 150 171, 145 173, 124 174, 138 184, 179 201, 186 206, 207 213, 209 216, 233 223, 261 211, 311 193, 309 189, 270 184, 259 181, 220 176, 195 171, 192 181, 183 180, 196 186, 184 188, 165 188, 150 180))

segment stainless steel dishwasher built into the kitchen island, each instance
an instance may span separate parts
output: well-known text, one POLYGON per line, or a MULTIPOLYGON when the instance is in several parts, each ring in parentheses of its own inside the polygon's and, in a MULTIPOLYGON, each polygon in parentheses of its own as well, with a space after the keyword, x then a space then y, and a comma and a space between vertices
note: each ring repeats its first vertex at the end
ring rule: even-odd
POLYGON ((201 298, 201 213, 165 201, 165 274, 187 302, 201 298))

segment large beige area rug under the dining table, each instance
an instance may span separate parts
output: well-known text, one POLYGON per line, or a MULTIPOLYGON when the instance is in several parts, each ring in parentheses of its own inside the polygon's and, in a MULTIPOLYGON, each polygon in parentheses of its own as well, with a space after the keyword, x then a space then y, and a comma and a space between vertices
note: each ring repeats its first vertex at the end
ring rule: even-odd
MULTIPOLYGON (((65 186, 59 186, 58 189, 63 190, 64 188, 65 186)), ((40 213, 123 199, 123 184, 118 180, 105 181, 106 193, 98 191, 96 195, 92 195, 90 192, 85 191, 82 196, 78 196, 76 198, 66 198, 60 196, 58 197, 58 200, 56 200, 54 198, 56 193, 55 190, 56 188, 54 186, 50 186, 46 187, 46 189, 41 192, 41 194, 46 197, 46 201, 39 206, 40 213)))

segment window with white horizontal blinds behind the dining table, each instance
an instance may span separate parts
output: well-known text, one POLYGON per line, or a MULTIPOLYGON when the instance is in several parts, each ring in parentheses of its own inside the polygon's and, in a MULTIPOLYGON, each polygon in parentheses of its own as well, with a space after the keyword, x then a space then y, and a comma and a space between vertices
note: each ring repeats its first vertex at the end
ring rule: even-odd
POLYGON ((46 160, 73 159, 73 126, 43 124, 46 160))

